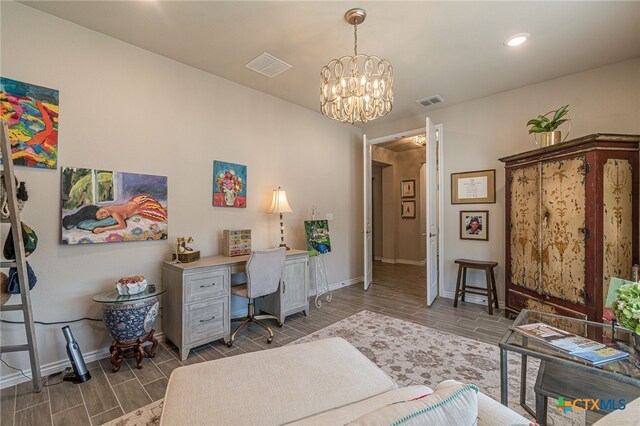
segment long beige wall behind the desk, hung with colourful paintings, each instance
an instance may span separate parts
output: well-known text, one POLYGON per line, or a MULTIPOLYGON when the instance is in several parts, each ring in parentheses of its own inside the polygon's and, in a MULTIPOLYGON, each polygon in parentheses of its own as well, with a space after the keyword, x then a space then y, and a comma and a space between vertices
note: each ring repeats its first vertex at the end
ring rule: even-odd
MULTIPOLYGON (((361 277, 358 128, 18 3, 2 2, 1 15, 2 76, 60 91, 59 166, 169 180, 168 241, 63 246, 60 170, 18 168, 30 197, 23 220, 39 237, 29 257, 38 276, 32 292, 37 320, 99 318, 92 296, 111 289, 121 276, 142 274, 160 282, 161 262, 177 236, 193 236, 203 256, 221 252, 223 229, 252 229, 255 248, 276 245, 278 221, 265 210, 278 185, 294 210, 285 218, 289 245, 304 248, 302 221, 317 204, 323 217, 335 218, 326 259, 329 282, 361 277), (246 209, 211 206, 214 159, 248 166, 246 209)), ((3 224, 2 241, 7 230, 3 224)), ((2 317, 20 319, 11 312, 2 317)), ((68 364, 61 326, 36 326, 40 362, 50 368, 68 364)), ((85 357, 104 356, 110 338, 101 322, 71 327, 85 357)), ((2 344, 22 341, 23 330, 2 324, 2 344)), ((28 368, 24 354, 2 358, 28 368)), ((3 366, 3 386, 8 376, 15 371, 3 366)))

